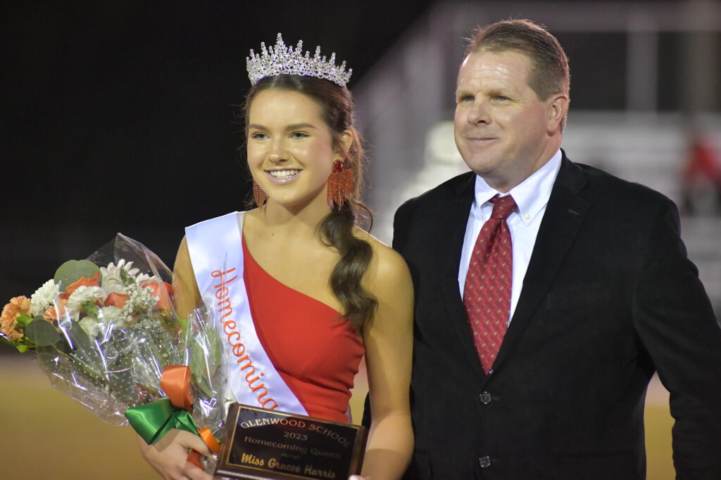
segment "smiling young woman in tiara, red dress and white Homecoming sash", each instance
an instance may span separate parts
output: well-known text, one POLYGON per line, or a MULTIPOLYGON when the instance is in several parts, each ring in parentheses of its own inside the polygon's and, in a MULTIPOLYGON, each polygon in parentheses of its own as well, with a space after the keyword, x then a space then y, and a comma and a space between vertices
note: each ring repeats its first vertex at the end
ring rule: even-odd
MULTIPOLYGON (((258 208, 187 229, 175 294, 181 313, 201 299, 215 307, 231 327, 224 335, 233 353, 246 353, 245 345, 232 344, 240 338, 235 316, 247 304, 264 350, 255 358, 267 356, 282 382, 273 384, 268 373, 261 386, 260 377, 252 383, 244 372, 231 381, 236 398, 260 406, 277 402, 280 410, 346 422, 365 354, 373 422, 363 476, 397 479, 413 444, 410 273, 397 253, 356 225, 366 207, 358 198, 363 148, 345 88, 350 72, 334 57, 303 57, 300 48, 286 48, 278 35, 270 55, 265 46, 262 55, 251 52, 244 112, 258 208), (288 407, 295 402, 299 411, 288 407)), ((254 362, 260 371, 262 360, 254 362)), ((211 478, 185 462, 188 448, 209 454, 199 438, 178 430, 152 446, 141 441, 143 456, 164 478, 211 478)))

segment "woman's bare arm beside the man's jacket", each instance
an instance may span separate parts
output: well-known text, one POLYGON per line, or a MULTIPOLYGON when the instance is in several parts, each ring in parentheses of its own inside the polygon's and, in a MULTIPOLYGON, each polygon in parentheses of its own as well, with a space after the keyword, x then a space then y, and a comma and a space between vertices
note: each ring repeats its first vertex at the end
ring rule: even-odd
POLYGON ((372 409, 363 476, 399 479, 413 450, 409 401, 413 286, 398 253, 380 243, 373 250, 374 260, 364 279, 378 299, 378 311, 363 332, 372 409))

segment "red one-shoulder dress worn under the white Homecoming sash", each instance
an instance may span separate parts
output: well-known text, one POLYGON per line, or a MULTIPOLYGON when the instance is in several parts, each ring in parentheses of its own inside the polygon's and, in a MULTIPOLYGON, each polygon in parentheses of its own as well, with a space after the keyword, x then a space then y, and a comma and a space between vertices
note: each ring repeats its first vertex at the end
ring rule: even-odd
POLYGON ((311 417, 348 422, 348 400, 365 353, 340 313, 281 284, 243 241, 244 281, 258 339, 311 417))

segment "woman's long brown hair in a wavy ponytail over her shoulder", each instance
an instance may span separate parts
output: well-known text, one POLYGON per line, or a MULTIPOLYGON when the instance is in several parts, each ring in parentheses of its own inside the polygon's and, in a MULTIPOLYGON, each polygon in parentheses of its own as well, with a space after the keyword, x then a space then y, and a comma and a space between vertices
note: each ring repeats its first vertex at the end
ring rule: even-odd
POLYGON ((333 147, 339 147, 340 135, 350 131, 352 142, 343 159, 345 168, 353 168, 353 192, 341 207, 333 209, 317 228, 319 240, 335 248, 340 258, 330 275, 333 294, 342 305, 343 316, 361 332, 366 321, 373 317, 378 300, 363 288, 361 281, 373 258, 373 248, 365 240, 353 235, 353 227, 363 219, 372 221, 371 210, 361 201, 363 186, 363 160, 365 153, 358 130, 353 126, 353 97, 345 87, 321 78, 278 75, 260 79, 245 97, 243 109, 245 126, 249 124, 250 104, 263 90, 283 89, 309 96, 319 107, 333 137, 333 147))

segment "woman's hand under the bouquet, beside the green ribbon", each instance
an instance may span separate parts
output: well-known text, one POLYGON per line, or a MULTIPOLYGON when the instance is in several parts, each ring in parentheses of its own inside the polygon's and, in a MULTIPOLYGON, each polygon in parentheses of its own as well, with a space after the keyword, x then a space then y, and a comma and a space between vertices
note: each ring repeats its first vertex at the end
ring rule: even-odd
POLYGON ((153 445, 138 437, 138 444, 145 461, 166 480, 212 480, 213 476, 185 461, 190 449, 211 456, 205 442, 185 430, 172 429, 153 445))

